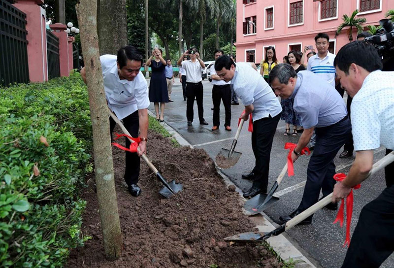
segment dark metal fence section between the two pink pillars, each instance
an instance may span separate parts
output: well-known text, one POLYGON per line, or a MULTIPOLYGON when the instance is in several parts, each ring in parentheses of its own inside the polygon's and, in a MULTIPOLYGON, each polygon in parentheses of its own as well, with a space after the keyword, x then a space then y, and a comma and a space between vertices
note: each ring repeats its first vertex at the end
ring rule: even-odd
POLYGON ((59 38, 48 29, 46 29, 46 48, 48 55, 48 79, 59 77, 59 38))

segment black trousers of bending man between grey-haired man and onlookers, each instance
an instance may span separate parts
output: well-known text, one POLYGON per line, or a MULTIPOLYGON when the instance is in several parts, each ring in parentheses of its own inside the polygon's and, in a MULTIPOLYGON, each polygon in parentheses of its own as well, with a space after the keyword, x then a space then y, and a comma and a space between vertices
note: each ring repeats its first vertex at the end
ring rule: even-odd
POLYGON ((269 158, 272 141, 281 113, 275 117, 266 117, 253 122, 252 149, 256 164, 253 173, 256 174, 253 186, 266 192, 268 187, 269 158))

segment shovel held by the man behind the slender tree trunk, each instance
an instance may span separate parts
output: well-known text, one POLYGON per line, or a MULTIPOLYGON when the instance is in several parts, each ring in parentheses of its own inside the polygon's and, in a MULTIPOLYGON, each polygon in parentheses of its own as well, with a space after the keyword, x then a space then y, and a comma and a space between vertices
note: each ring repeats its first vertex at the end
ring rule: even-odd
MULTIPOLYGON (((130 135, 130 133, 127 131, 127 129, 125 128, 125 126, 123 126, 122 122, 120 122, 120 120, 118 119, 118 117, 116 117, 116 115, 108 108, 109 110, 109 115, 112 117, 112 119, 120 126, 120 128, 122 129, 123 133, 126 135, 130 135)), ((133 140, 131 140, 129 138, 129 140, 132 142, 134 142, 133 140)), ((139 151, 139 148, 137 149, 139 151)), ((171 197, 173 194, 178 193, 180 191, 182 191, 183 189, 183 185, 180 183, 175 183, 174 180, 172 180, 170 183, 168 183, 162 174, 160 174, 160 172, 157 170, 157 168, 155 166, 153 166, 152 162, 149 161, 148 157, 143 154, 142 159, 146 162, 146 164, 148 164, 148 166, 152 169, 152 171, 155 173, 155 175, 157 176, 157 178, 163 183, 164 187, 162 188, 162 190, 160 190, 159 194, 161 194, 162 196, 164 196, 165 198, 169 198, 171 197)))

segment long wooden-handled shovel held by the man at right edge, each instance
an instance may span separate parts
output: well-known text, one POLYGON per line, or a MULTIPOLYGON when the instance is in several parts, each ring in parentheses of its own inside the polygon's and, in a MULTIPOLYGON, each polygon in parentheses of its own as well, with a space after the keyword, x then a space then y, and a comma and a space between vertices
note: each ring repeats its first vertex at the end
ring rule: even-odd
MULTIPOLYGON (((373 166, 371 171, 369 171, 368 177, 375 174, 377 171, 380 169, 386 167, 387 165, 391 164, 394 162, 394 152, 391 152, 378 162, 376 162, 373 166)), ((282 234, 283 232, 289 230, 290 228, 294 227, 322 207, 325 207, 331 202, 332 198, 332 193, 329 194, 327 197, 323 198, 321 201, 315 203, 314 205, 310 206, 308 209, 304 210, 303 212, 299 213, 296 217, 291 219, 290 221, 282 224, 275 230, 269 232, 269 233, 264 233, 264 232, 250 232, 250 233, 242 233, 242 234, 236 234, 232 235, 229 237, 224 238, 226 241, 231 241, 231 242, 261 242, 263 240, 266 240, 267 238, 271 236, 275 236, 278 234, 282 234)))

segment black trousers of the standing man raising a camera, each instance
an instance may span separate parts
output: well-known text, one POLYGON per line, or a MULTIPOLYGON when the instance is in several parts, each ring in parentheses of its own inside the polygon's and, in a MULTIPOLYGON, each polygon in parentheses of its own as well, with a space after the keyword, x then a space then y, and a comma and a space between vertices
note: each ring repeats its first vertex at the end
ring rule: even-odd
POLYGON ((188 121, 193 122, 194 117, 194 99, 197 100, 198 107, 198 118, 200 121, 204 119, 204 108, 202 107, 202 83, 186 83, 186 96, 188 97, 188 101, 186 103, 186 117, 188 121))

